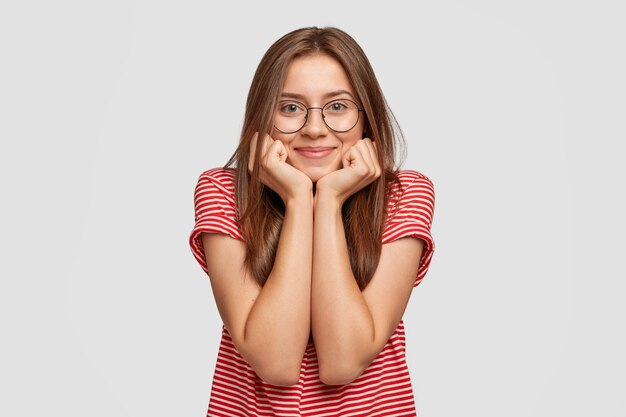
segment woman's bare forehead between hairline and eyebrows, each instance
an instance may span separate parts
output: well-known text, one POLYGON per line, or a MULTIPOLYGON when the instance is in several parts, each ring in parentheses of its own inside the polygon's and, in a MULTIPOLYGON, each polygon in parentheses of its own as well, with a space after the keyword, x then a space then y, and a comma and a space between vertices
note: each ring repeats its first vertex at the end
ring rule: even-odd
POLYGON ((338 90, 354 95, 348 74, 341 64, 328 55, 317 54, 298 57, 289 64, 282 92, 315 100, 338 90))

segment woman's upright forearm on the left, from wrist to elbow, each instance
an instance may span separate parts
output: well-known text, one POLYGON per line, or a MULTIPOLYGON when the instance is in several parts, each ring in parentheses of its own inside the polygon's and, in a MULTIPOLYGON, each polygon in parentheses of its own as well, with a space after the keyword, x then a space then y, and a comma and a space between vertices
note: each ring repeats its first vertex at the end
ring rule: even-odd
POLYGON ((312 195, 286 204, 272 271, 246 321, 244 346, 258 369, 299 371, 310 334, 312 195), (283 369, 281 369, 283 368, 283 369))

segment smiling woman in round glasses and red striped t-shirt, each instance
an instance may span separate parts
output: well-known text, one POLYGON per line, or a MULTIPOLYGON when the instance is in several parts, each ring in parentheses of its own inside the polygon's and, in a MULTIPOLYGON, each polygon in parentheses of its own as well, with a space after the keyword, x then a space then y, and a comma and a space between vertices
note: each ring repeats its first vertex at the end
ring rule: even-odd
POLYGON ((415 415, 401 319, 434 191, 397 170, 395 127, 345 32, 295 30, 262 58, 239 147, 195 191, 224 323, 208 415, 415 415))

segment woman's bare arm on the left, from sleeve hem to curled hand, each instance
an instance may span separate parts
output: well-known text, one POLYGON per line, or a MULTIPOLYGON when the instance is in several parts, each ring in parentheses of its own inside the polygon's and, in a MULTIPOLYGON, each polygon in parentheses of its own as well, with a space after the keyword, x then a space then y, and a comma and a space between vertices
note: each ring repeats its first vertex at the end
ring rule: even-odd
MULTIPOLYGON (((255 155, 252 143, 251 155, 255 155)), ((285 203, 272 271, 261 288, 244 267, 245 245, 204 234, 220 316, 241 356, 268 383, 293 385, 310 334, 313 196, 310 179, 285 163, 278 141, 262 143, 258 173, 285 203)), ((250 164, 252 170, 253 162, 250 164)))

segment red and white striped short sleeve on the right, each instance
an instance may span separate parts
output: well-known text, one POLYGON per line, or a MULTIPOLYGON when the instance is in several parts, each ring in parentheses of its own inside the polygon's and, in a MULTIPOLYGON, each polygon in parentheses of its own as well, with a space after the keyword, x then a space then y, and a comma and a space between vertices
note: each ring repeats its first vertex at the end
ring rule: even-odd
POLYGON ((416 171, 400 171, 391 187, 388 217, 383 231, 383 244, 403 237, 424 241, 414 287, 426 276, 435 251, 430 233, 435 209, 435 189, 432 181, 416 171))

